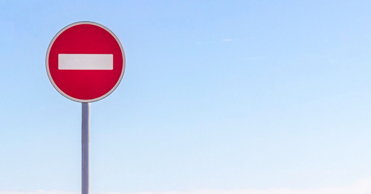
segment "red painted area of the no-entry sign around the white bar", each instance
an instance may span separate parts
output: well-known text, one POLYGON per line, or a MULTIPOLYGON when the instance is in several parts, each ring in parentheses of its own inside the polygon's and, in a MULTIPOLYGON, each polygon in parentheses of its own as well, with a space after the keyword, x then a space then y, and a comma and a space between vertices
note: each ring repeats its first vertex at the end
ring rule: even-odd
POLYGON ((123 65, 121 48, 115 37, 92 24, 72 26, 59 34, 48 60, 50 75, 58 88, 82 100, 99 98, 114 88, 123 65), (113 70, 59 70, 58 54, 113 54, 113 70))

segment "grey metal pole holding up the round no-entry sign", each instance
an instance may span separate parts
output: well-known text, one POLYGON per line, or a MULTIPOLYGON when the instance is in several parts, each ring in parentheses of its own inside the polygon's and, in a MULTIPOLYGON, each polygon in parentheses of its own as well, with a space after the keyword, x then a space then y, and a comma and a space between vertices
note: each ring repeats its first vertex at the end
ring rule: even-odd
POLYGON ((81 104, 81 190, 90 194, 90 103, 81 104))

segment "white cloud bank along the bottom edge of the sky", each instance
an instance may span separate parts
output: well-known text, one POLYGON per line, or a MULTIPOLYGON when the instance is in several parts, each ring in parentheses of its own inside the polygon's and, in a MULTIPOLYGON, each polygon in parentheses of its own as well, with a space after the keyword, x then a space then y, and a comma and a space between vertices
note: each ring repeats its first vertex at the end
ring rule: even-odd
MULTIPOLYGON (((269 188, 269 189, 240 189, 240 190, 197 190, 197 191, 168 191, 168 192, 138 192, 138 193, 117 193, 104 192, 92 194, 370 194, 371 178, 359 180, 354 184, 344 187, 323 187, 309 189, 295 188, 269 188)), ((0 191, 0 194, 80 194, 80 192, 68 191, 0 191)))

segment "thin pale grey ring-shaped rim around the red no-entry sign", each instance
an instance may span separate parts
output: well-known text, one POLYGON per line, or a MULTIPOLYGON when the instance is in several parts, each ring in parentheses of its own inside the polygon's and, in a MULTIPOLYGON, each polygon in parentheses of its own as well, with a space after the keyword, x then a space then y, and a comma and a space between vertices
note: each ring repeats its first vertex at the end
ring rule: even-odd
POLYGON ((50 42, 49 44, 49 47, 47 48, 47 52, 46 52, 46 59, 45 59, 45 64, 46 64, 46 72, 47 72, 47 76, 49 77, 49 80, 50 82, 52 83, 52 85, 54 86, 54 88, 60 93, 62 94, 63 96, 65 96, 66 98, 70 99, 70 100, 73 100, 73 101, 76 101, 76 102, 95 102, 95 101, 99 101, 103 98, 106 98, 108 95, 110 95, 116 88, 117 86, 120 84, 121 80, 122 80, 122 76, 124 76, 124 72, 125 72, 125 52, 124 52, 124 48, 122 47, 121 45, 121 42, 120 40, 118 39, 118 37, 111 31, 109 30, 107 27, 103 26, 102 24, 99 24, 99 23, 96 23, 96 22, 75 22, 75 23, 72 23, 72 24, 69 24, 68 26, 64 27, 62 30, 60 30, 52 39, 52 41, 50 42), (120 75, 120 78, 118 79, 117 83, 115 84, 115 86, 110 90, 108 91, 107 93, 105 93, 103 96, 100 96, 98 98, 94 98, 94 99, 89 99, 89 100, 82 100, 82 99, 78 99, 78 98, 73 98, 72 96, 69 96, 67 95, 66 93, 64 93, 62 90, 60 90, 58 88, 58 86, 54 83, 54 80, 52 78, 52 76, 50 75, 50 70, 49 70, 49 53, 50 53, 50 49, 54 43, 54 41, 58 38, 58 36, 60 34, 62 34, 65 30, 69 29, 70 27, 73 27, 73 26, 77 26, 77 25, 80 25, 80 24, 92 24, 92 25, 95 25, 95 26, 98 26, 98 27, 101 27, 103 29, 105 29, 107 32, 109 32, 117 41, 117 43, 119 44, 120 46, 120 49, 121 49, 121 53, 122 53, 122 71, 121 71, 121 75, 120 75))

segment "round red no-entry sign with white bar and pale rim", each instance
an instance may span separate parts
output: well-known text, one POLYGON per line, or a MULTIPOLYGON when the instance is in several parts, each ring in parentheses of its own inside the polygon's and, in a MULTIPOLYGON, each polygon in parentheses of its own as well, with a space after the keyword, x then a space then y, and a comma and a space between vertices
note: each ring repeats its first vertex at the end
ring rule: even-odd
POLYGON ((116 35, 94 22, 60 30, 46 53, 46 72, 59 93, 77 102, 105 98, 119 85, 125 53, 116 35))

